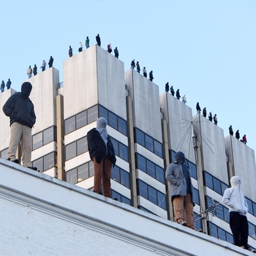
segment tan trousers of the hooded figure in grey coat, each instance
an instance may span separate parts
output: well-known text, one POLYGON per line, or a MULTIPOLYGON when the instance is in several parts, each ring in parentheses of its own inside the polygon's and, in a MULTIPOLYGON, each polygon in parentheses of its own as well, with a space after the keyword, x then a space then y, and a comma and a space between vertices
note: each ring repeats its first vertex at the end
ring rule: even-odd
POLYGON ((190 194, 177 195, 173 198, 174 219, 176 222, 186 221, 187 227, 194 227, 193 203, 190 194))

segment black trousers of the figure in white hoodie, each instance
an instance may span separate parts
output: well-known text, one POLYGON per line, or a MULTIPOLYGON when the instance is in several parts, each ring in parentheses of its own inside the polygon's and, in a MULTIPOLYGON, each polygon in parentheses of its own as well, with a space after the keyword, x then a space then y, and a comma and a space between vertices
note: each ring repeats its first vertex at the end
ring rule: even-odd
POLYGON ((248 222, 244 215, 236 211, 230 212, 230 229, 233 233, 234 244, 237 246, 244 246, 248 249, 248 222))

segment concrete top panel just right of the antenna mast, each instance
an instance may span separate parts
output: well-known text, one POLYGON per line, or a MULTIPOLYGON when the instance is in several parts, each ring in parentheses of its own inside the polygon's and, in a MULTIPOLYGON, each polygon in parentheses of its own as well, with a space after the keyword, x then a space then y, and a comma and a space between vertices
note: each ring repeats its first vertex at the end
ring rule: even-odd
POLYGON ((193 125, 197 140, 200 141, 202 138, 203 170, 228 184, 223 129, 201 115, 193 116, 193 125))

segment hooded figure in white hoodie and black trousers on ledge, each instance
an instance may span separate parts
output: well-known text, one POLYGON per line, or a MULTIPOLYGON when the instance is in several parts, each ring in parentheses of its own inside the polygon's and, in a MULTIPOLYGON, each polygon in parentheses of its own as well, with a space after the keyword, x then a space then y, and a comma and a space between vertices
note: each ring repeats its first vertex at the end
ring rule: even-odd
POLYGON ((222 202, 229 208, 230 229, 233 233, 233 241, 236 246, 248 248, 249 225, 246 218, 248 205, 241 189, 241 178, 230 178, 231 187, 225 189, 222 202))

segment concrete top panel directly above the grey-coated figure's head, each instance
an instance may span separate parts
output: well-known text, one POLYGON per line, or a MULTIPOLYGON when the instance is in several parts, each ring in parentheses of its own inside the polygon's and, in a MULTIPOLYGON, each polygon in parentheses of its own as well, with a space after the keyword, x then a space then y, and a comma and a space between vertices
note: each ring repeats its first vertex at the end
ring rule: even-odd
POLYGON ((171 94, 159 96, 162 113, 169 128, 169 146, 173 151, 183 151, 195 163, 192 140, 192 109, 171 94))

